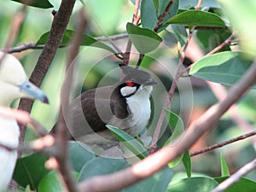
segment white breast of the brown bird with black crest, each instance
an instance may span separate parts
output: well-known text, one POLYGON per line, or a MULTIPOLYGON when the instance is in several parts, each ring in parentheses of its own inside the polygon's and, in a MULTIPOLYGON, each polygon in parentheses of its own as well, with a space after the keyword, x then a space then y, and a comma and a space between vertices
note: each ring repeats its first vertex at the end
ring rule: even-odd
POLYGON ((152 90, 152 86, 141 86, 133 96, 126 98, 127 105, 132 113, 131 130, 129 130, 131 136, 138 136, 148 124, 151 114, 149 97, 152 90))

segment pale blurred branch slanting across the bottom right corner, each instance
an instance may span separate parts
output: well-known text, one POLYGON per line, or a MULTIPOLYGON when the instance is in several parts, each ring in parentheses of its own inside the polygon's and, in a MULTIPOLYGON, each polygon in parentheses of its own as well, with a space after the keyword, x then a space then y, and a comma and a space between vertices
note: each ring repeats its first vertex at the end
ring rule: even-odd
POLYGON ((225 189, 228 189, 232 184, 238 182, 241 177, 246 175, 248 172, 252 172, 256 168, 256 159, 247 163, 245 166, 242 166, 240 170, 235 172, 229 178, 224 180, 224 182, 218 184, 218 186, 212 190, 212 192, 222 192, 225 189))

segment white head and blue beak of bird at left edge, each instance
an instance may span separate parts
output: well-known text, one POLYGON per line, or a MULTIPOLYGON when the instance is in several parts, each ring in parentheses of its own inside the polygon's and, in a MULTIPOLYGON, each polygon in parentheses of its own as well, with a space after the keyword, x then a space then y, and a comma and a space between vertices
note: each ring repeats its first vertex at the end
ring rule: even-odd
POLYGON ((28 81, 24 68, 15 56, 0 51, 0 61, 0 105, 9 106, 20 97, 49 103, 44 91, 28 81))

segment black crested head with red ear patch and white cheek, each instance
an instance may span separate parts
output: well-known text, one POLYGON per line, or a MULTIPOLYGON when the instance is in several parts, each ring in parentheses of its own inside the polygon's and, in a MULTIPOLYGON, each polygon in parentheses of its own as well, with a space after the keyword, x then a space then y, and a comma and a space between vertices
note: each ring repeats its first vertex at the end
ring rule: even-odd
POLYGON ((152 85, 158 84, 147 72, 124 65, 120 65, 120 68, 125 75, 119 85, 122 96, 129 97, 144 89, 150 94, 152 85))

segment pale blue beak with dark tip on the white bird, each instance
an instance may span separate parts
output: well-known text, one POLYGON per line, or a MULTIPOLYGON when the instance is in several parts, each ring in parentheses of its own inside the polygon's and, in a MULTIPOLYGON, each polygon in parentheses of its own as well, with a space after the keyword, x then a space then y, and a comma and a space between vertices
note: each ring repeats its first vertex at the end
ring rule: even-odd
POLYGON ((29 81, 20 84, 20 90, 26 93, 27 96, 38 99, 41 102, 49 103, 48 97, 43 90, 40 90, 36 85, 30 83, 29 81))

